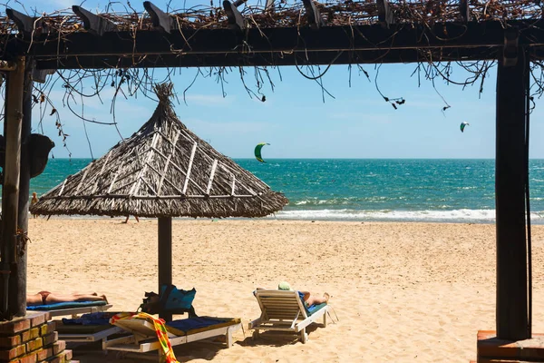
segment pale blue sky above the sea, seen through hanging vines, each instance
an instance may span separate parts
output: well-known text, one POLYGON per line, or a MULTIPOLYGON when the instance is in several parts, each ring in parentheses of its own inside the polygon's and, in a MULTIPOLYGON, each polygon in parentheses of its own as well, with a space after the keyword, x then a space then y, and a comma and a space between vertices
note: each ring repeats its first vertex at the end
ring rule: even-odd
MULTIPOLYGON (((131 5, 141 9, 141 1, 131 5), (139 7, 138 7, 139 6, 139 7)), ((175 3, 175 2, 174 2, 175 3)), ((182 4, 181 2, 178 2, 182 4)), ((214 1, 217 3, 217 1, 214 1)), ((21 10, 21 5, 13 7, 21 10)), ((25 0, 27 9, 50 12, 74 3, 67 0, 37 2, 25 0)), ((89 0, 83 4, 88 9, 103 9, 106 2, 89 0)), ((166 8, 165 1, 156 5, 166 8)), ((187 6, 208 2, 187 1, 187 6)), ((181 7, 181 6, 179 6, 181 7)), ((121 10, 118 6, 116 9, 121 10)), ((237 69, 226 76, 226 96, 214 77, 199 77, 189 89, 187 104, 181 93, 192 82, 196 69, 180 69, 172 80, 179 93, 180 103, 175 111, 181 122, 208 141, 219 152, 232 158, 253 156, 257 142, 270 142, 263 149, 265 158, 494 158, 495 156, 495 67, 479 94, 480 83, 462 88, 458 85, 436 82, 436 89, 451 108, 442 112, 445 105, 432 88, 432 83, 422 79, 418 86, 416 75, 411 76, 416 64, 384 64, 379 69, 377 84, 390 98, 403 97, 405 103, 394 110, 390 103, 376 91, 374 77, 377 66, 364 64, 371 78, 358 75, 352 69, 351 87, 345 65, 332 66, 323 77, 323 83, 335 99, 325 96, 322 101, 320 86, 298 73, 294 67, 272 69, 274 92, 268 86, 263 93, 267 101, 249 97, 239 79, 237 69), (470 126, 461 133, 461 122, 470 126)), ((247 69, 246 82, 255 89, 253 69, 247 69)), ((157 73, 157 78, 164 71, 157 73)), ((463 81, 466 74, 461 67, 454 68, 452 77, 463 81)), ((109 122, 112 90, 102 94, 102 104, 97 98, 85 101, 85 117, 109 122)), ((63 90, 53 91, 53 101, 62 104, 63 90)), ((531 116, 531 158, 544 158, 544 143, 539 135, 544 132, 542 102, 531 116)), ((81 104, 78 105, 81 108, 81 104)), ((145 97, 118 99, 116 118, 123 137, 137 131, 153 113, 156 103, 145 97)), ((67 145, 75 158, 91 157, 83 132, 83 122, 67 109, 57 107, 64 132, 70 136, 67 145)), ((34 128, 38 110, 34 113, 34 128)), ((55 119, 45 116, 44 132, 57 146, 54 157, 67 157, 62 141, 54 127, 55 119)), ((94 157, 100 157, 121 140, 112 126, 87 123, 94 157)))

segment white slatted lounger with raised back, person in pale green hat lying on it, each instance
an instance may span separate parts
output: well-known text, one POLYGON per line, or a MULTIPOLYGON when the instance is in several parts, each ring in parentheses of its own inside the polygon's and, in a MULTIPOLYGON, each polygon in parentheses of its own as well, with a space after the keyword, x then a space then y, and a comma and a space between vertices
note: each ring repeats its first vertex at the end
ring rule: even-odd
POLYGON ((254 338, 259 330, 278 330, 300 334, 300 339, 306 343, 308 325, 323 317, 326 327, 328 306, 323 303, 307 308, 298 291, 257 289, 255 297, 261 316, 249 323, 249 329, 255 330, 254 338))

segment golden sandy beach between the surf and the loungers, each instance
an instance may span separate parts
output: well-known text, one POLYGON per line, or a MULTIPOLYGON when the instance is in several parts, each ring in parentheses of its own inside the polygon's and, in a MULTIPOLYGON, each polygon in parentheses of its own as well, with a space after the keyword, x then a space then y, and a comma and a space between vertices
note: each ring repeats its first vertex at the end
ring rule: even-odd
MULTIPOLYGON (((116 311, 137 309, 157 290, 157 221, 123 220, 31 220, 28 292, 97 291, 116 311)), ((176 348, 180 361, 467 362, 477 331, 495 328, 494 225, 180 220, 172 243, 173 282, 197 289, 197 313, 245 329, 229 349, 176 348), (248 333, 251 291, 281 280, 332 295, 334 322, 306 345, 248 333)), ((544 332, 544 226, 532 243, 533 331, 544 332)))

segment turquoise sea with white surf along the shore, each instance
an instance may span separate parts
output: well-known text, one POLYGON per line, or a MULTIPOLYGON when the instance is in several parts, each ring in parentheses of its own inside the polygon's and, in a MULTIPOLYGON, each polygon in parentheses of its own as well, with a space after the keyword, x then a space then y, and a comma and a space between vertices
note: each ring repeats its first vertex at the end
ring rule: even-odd
MULTIPOLYGON (((38 196, 91 159, 51 159, 31 181, 38 196)), ((289 204, 268 218, 321 221, 495 221, 495 161, 235 159, 289 204)), ((544 224, 544 160, 529 162, 531 222, 544 224)))

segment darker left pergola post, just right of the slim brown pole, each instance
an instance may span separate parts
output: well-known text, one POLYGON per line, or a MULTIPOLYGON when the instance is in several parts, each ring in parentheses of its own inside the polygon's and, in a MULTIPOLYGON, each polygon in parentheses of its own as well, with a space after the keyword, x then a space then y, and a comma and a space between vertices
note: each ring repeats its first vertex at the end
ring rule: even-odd
MULTIPOLYGON (((29 140, 32 127, 32 74, 34 64, 31 59, 26 58, 26 69, 24 70, 24 93, 23 93, 23 123, 21 128, 21 168, 19 179, 19 202, 17 213, 17 226, 24 233, 28 232, 28 204, 30 186, 30 158, 29 140)), ((26 243, 24 239, 19 240, 15 247, 16 263, 12 265, 9 278, 9 306, 15 316, 23 317, 26 314, 26 243), (13 307, 13 309, 12 309, 13 307)))

